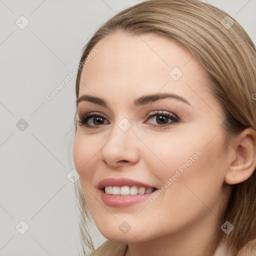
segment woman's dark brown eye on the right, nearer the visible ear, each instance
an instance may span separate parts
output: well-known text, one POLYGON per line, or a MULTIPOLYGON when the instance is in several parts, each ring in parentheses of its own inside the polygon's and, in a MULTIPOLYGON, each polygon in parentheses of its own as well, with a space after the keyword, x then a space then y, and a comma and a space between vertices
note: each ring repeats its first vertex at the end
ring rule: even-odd
POLYGON ((173 122, 178 122, 179 118, 168 111, 164 110, 154 110, 147 114, 146 116, 148 119, 146 123, 148 123, 148 120, 154 120, 158 124, 153 124, 154 127, 162 127, 170 125, 173 122))

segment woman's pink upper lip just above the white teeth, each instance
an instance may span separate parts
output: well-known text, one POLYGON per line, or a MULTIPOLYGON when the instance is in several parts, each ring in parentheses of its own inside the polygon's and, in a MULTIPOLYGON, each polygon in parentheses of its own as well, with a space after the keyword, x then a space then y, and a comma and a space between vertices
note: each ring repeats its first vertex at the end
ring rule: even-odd
POLYGON ((98 183, 98 188, 102 189, 105 186, 137 186, 137 187, 145 187, 145 188, 155 188, 154 186, 142 183, 137 180, 129 179, 129 178, 106 178, 101 180, 98 183))

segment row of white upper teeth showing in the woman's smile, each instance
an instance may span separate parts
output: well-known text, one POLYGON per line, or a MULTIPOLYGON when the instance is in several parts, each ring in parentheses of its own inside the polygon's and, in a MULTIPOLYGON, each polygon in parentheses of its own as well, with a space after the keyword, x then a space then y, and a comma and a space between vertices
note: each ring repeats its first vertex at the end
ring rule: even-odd
POLYGON ((121 194, 121 195, 127 195, 127 194, 147 194, 151 193, 154 188, 145 188, 145 187, 137 187, 137 186, 105 186, 104 191, 106 194, 121 194))

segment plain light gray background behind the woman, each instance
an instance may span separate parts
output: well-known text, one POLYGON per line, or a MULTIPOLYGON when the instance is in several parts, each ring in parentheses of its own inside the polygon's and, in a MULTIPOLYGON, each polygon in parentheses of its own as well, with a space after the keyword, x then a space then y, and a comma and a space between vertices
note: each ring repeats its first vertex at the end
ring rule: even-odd
MULTIPOLYGON (((66 177, 74 168, 75 78, 51 100, 46 94, 72 72, 93 31, 137 2, 0 0, 0 256, 81 252, 74 184, 66 177), (24 29, 15 24, 21 15, 29 21, 24 29), (29 226, 24 234, 15 228, 21 220, 29 226)), ((207 2, 232 15, 255 43, 256 0, 207 2)), ((93 237, 104 240, 97 230, 93 237)))

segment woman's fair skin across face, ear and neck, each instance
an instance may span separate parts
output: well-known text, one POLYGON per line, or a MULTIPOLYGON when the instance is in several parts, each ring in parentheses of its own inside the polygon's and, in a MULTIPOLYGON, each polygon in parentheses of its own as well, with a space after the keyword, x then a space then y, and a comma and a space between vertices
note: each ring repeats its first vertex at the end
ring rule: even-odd
MULTIPOLYGON (((242 182, 255 169, 255 156, 246 148, 253 145, 255 135, 246 129, 227 147, 221 107, 208 90, 211 77, 176 41, 117 31, 95 48, 99 52, 82 70, 79 96, 98 96, 108 107, 79 102, 79 118, 97 112, 105 119, 98 125, 90 118, 94 129, 78 125, 73 157, 97 228, 107 239, 127 243, 126 256, 199 255, 213 244, 213 232, 220 228, 216 221, 227 203, 230 184, 242 182), (183 73, 178 80, 169 75, 173 67, 183 73), (190 105, 173 98, 133 104, 137 97, 161 92, 180 95, 190 105), (180 121, 168 119, 168 126, 154 127, 163 124, 156 115, 146 115, 156 109, 173 113, 180 121), (122 118, 131 123, 125 132, 118 127, 122 118), (126 177, 160 188, 197 151, 200 156, 154 202, 124 208, 102 202, 100 180, 126 177), (123 221, 130 225, 125 234, 118 228, 123 221)), ((213 255, 215 248, 207 255, 213 255)))

